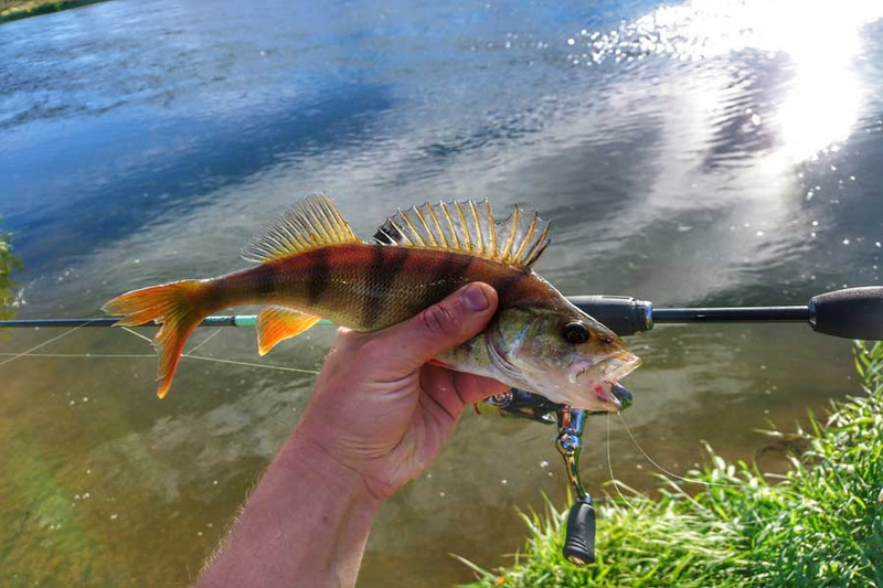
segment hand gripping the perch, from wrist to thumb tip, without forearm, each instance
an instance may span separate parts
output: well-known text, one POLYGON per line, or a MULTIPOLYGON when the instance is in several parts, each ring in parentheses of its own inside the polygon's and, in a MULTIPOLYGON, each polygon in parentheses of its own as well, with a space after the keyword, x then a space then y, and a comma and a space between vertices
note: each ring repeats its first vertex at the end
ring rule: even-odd
POLYGON ((438 456, 466 405, 508 389, 427 363, 496 310, 497 292, 476 282, 383 331, 339 330, 296 437, 389 498, 438 456))

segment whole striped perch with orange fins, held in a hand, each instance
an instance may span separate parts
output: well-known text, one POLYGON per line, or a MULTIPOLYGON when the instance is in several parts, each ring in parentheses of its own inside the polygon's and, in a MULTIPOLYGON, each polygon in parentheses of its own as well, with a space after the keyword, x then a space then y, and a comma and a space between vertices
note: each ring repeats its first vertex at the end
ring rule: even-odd
POLYGON ((386 218, 371 242, 355 236, 322 194, 290 207, 243 249, 256 266, 205 279, 134 290, 104 304, 116 325, 160 324, 157 395, 171 387, 190 334, 223 309, 260 304, 263 356, 320 319, 357 331, 405 321, 460 287, 498 293, 486 329, 435 359, 574 408, 618 411, 619 379, 640 365, 625 342, 533 270, 550 244, 550 222, 515 206, 496 223, 488 201, 423 204, 386 218))

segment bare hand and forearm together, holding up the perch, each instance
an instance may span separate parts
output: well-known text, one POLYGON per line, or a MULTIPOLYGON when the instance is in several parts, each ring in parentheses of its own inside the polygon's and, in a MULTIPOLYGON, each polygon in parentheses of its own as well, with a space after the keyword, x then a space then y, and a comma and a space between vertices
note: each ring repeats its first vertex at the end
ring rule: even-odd
POLYGON ((493 288, 472 284, 384 331, 341 329, 304 417, 198 586, 354 586, 383 502, 438 456, 466 406, 508 388, 427 363, 496 309, 493 288))

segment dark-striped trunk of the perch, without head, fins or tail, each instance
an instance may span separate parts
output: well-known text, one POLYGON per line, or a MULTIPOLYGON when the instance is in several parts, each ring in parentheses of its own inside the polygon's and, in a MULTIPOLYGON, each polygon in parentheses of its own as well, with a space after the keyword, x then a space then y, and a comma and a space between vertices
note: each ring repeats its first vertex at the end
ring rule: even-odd
POLYGON ((272 304, 375 331, 414 317, 474 281, 492 286, 500 308, 557 293, 530 268, 455 252, 354 243, 215 278, 208 296, 216 310, 272 304))

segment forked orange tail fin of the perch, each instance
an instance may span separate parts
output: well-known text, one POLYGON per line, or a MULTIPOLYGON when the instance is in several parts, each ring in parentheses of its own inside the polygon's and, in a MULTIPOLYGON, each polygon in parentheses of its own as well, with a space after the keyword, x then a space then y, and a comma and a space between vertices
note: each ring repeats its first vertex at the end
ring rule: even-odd
POLYGON ((151 286, 126 292, 102 307, 108 314, 124 316, 115 327, 135 327, 149 321, 162 325, 153 338, 153 345, 159 353, 157 396, 160 398, 166 396, 172 385, 184 342, 211 312, 202 303, 205 286, 205 281, 200 280, 151 286))

